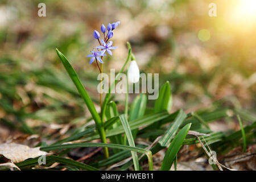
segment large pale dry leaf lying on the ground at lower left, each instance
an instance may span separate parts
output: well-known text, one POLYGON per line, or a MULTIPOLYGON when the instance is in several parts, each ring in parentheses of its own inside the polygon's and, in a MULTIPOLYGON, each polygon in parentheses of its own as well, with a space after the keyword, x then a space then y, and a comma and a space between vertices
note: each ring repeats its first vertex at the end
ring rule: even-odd
POLYGON ((0 144, 0 155, 10 159, 13 163, 19 163, 29 158, 48 155, 48 152, 40 151, 40 147, 30 148, 23 144, 3 143, 0 144))

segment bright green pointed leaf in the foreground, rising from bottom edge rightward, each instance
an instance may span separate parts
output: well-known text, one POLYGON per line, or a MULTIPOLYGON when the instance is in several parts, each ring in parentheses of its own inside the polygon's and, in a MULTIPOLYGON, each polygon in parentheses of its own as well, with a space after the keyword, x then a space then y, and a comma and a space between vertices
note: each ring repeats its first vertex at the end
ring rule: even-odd
POLYGON ((179 131, 179 133, 177 133, 177 135, 174 137, 174 140, 172 140, 170 146, 168 147, 168 150, 166 151, 166 155, 164 155, 162 166, 160 168, 161 171, 170 170, 172 163, 174 162, 176 155, 179 152, 182 146, 182 143, 188 134, 188 130, 190 129, 190 126, 191 126, 191 123, 184 126, 179 131))

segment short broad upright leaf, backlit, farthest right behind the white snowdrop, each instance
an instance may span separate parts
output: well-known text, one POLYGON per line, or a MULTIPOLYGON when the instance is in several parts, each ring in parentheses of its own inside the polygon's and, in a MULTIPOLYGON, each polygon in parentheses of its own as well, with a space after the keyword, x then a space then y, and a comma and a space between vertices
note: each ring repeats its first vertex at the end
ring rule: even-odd
POLYGON ((171 86, 169 81, 167 81, 159 90, 158 98, 155 101, 155 113, 160 111, 170 111, 172 107, 172 94, 171 86))

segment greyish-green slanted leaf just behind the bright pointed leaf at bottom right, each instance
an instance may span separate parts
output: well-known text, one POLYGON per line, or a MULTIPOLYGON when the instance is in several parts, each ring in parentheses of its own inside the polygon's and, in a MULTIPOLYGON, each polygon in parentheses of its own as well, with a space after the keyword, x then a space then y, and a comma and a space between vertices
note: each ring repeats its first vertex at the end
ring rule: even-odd
POLYGON ((163 137, 159 140, 159 143, 163 147, 167 147, 168 144, 171 142, 172 138, 174 138, 177 130, 181 123, 187 118, 187 114, 184 113, 182 109, 179 110, 179 114, 174 120, 174 123, 170 125, 166 133, 164 133, 163 137))

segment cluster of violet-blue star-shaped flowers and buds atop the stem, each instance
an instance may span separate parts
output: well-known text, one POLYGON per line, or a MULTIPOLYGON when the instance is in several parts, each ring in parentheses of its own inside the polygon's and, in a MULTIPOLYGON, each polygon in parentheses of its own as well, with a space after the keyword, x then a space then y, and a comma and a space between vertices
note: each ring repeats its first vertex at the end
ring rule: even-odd
POLYGON ((109 23, 108 27, 105 27, 104 24, 102 24, 101 32, 103 34, 103 39, 101 39, 101 41, 100 41, 100 37, 101 37, 100 33, 97 30, 94 30, 93 36, 95 39, 98 40, 98 43, 100 44, 100 46, 96 47, 97 51, 93 49, 93 51, 91 51, 92 54, 87 56, 87 57, 92 57, 90 59, 90 64, 92 64, 94 60, 99 61, 100 63, 104 63, 102 61, 102 56, 106 56, 105 52, 108 52, 110 56, 113 55, 111 50, 117 49, 117 47, 112 46, 113 42, 109 41, 109 39, 113 38, 113 35, 114 35, 113 30, 115 30, 115 28, 117 28, 119 24, 120 24, 119 21, 112 24, 109 23))

